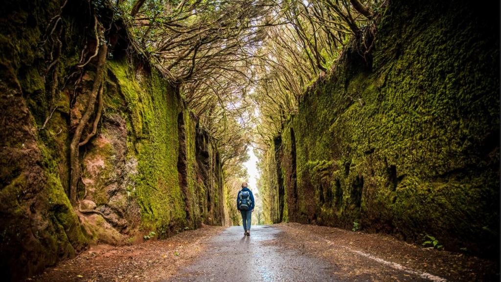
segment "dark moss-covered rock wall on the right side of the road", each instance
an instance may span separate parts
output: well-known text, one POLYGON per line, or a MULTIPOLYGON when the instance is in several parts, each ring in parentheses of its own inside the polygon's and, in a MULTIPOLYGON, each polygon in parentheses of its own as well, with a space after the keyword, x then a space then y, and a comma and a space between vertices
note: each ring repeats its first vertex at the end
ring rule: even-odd
POLYGON ((498 258, 499 33, 482 13, 391 1, 372 56, 346 50, 267 152, 268 221, 498 258))

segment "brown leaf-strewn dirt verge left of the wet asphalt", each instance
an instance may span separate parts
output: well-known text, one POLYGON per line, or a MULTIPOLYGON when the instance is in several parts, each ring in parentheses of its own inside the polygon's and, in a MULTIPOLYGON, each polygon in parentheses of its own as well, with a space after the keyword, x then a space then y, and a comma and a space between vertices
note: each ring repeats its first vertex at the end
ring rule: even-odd
POLYGON ((131 246, 96 245, 74 259, 59 263, 30 281, 159 281, 173 276, 225 227, 203 226, 131 246))

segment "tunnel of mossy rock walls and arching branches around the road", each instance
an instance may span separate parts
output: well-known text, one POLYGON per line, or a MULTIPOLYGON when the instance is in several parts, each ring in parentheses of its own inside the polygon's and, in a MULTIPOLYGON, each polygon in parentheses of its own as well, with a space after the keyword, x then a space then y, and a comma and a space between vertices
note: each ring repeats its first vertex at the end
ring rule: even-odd
POLYGON ((249 152, 260 223, 356 223, 495 257, 496 13, 463 0, 6 1, 0 234, 17 255, 3 265, 36 273, 134 232, 238 224, 249 152))

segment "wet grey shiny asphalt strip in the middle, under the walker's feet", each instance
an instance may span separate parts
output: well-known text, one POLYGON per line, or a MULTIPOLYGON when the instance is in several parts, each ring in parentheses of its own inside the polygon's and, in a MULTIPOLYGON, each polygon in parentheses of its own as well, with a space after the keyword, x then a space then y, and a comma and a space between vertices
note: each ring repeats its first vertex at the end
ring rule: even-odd
POLYGON ((320 258, 274 245, 283 231, 252 226, 244 236, 232 226, 207 243, 205 253, 167 281, 336 281, 331 265, 320 258))

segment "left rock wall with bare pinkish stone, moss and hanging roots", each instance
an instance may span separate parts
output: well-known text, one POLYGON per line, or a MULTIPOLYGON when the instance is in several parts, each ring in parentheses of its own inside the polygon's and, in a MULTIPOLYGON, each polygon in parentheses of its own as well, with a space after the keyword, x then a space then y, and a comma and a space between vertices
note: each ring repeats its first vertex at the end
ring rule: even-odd
MULTIPOLYGON (((1 12, 0 272, 7 280, 40 272, 89 243, 225 223, 215 140, 199 128, 178 87, 129 46, 124 25, 111 24, 106 7, 97 10, 111 27, 102 117, 80 147, 80 202, 70 204, 69 144, 97 58, 76 67, 96 45, 89 2, 63 3, 7 1, 1 12)), ((83 136, 91 131, 92 123, 83 136)))

